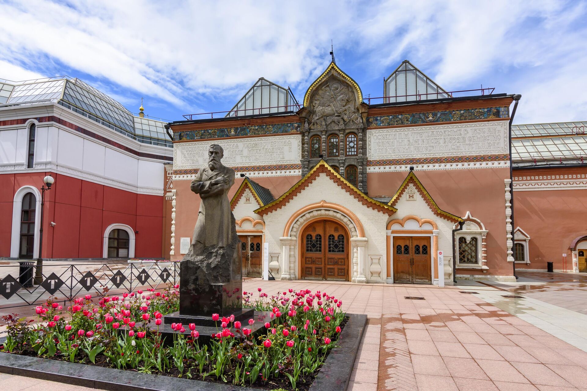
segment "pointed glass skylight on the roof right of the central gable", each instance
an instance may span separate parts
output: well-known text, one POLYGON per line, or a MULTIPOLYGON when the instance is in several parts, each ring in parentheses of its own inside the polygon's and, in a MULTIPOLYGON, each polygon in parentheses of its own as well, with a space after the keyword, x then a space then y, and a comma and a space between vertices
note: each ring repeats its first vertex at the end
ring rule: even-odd
POLYGON ((405 102, 411 100, 426 100, 448 98, 442 87, 434 83, 426 74, 404 60, 383 83, 384 103, 405 102))

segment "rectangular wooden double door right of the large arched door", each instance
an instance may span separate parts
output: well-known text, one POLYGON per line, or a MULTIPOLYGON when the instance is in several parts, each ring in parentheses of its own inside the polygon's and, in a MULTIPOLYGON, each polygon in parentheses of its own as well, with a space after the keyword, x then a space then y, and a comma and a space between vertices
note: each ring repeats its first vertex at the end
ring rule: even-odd
POLYGON ((432 283, 430 237, 395 236, 392 252, 394 283, 432 283))

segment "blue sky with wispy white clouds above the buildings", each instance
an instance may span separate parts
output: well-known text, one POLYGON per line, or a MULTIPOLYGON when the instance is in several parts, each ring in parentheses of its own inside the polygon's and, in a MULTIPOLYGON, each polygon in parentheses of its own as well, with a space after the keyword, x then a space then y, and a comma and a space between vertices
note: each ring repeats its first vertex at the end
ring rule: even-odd
POLYGON ((364 96, 407 59, 447 91, 521 94, 514 123, 585 121, 586 21, 586 1, 0 0, 0 79, 79 77, 177 121, 259 77, 302 101, 332 40, 364 96))

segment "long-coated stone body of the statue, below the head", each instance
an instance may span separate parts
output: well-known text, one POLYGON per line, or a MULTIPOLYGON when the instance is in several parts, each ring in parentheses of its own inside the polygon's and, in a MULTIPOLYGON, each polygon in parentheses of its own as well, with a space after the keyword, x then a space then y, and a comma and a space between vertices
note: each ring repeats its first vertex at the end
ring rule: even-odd
POLYGON ((196 256, 208 246, 226 247, 230 243, 234 220, 231 219, 228 191, 234 185, 234 169, 221 165, 212 171, 208 166, 200 169, 191 181, 191 191, 199 194, 202 202, 191 240, 196 256), (228 185, 211 185, 212 179, 224 176, 228 185))

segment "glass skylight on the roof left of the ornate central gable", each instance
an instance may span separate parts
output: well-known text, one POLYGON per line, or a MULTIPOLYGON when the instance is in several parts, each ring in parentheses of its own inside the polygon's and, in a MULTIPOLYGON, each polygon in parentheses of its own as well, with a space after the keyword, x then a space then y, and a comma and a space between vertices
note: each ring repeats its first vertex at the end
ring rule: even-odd
POLYGON ((291 90, 261 77, 231 108, 226 117, 298 111, 298 107, 295 106, 297 103, 291 90))

